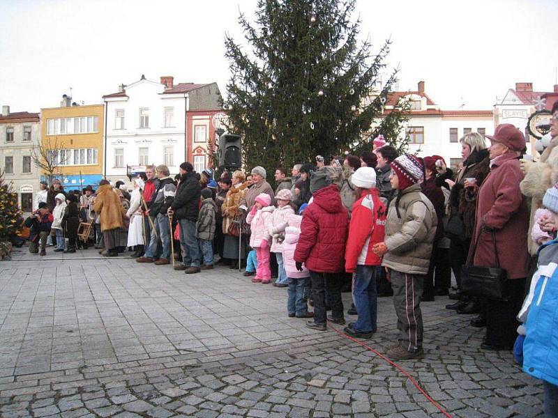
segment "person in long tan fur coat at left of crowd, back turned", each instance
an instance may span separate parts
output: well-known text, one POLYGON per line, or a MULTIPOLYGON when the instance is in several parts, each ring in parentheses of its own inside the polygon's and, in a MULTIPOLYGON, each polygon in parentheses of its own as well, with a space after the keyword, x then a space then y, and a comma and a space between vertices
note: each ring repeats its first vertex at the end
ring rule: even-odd
POLYGON ((105 242, 104 256, 118 256, 120 229, 123 226, 122 217, 126 215, 119 195, 107 180, 100 180, 95 199, 95 212, 99 215, 100 230, 105 242))

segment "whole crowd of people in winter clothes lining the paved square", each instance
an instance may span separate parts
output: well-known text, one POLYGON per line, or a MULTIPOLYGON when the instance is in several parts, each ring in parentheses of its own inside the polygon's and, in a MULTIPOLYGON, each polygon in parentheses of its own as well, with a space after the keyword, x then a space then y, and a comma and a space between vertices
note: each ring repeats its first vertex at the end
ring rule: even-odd
MULTIPOLYGON (((557 137, 558 109, 553 112, 557 137)), ((484 350, 512 350, 518 329, 526 335, 518 339, 525 371, 545 380, 548 399, 556 399, 552 318, 558 305, 552 298, 558 291, 550 284, 558 280, 558 164, 548 160, 558 163, 558 147, 552 143, 541 162, 522 160, 525 137, 506 124, 492 136, 467 133, 460 143, 462 164, 455 171, 439 155, 398 155, 379 137, 360 157, 318 155, 315 164, 294 165, 291 176, 278 168, 275 189, 263 167, 225 171, 215 181, 211 169, 195 173, 188 162, 176 178, 164 165, 148 167, 131 194, 106 180, 96 191, 68 194, 53 182, 40 192, 30 251, 40 242, 45 254, 49 235, 54 251, 66 249, 65 238, 66 251, 75 251, 77 224, 92 221, 91 236, 105 256, 128 247, 137 263, 172 263, 186 274, 213 269, 218 258, 218 264, 246 268, 244 276, 255 284, 276 279, 274 286, 286 287, 289 317, 308 318, 315 330, 326 330, 328 322, 346 325, 346 334, 364 339, 377 330, 377 297, 390 295, 400 331, 387 350, 391 359, 423 355, 421 302, 449 294, 457 301, 447 309, 477 314, 471 325, 486 327, 484 350), (507 296, 490 300, 462 291, 464 265, 504 269, 507 296), (345 324, 347 282, 354 302, 349 313, 358 319, 345 324)))

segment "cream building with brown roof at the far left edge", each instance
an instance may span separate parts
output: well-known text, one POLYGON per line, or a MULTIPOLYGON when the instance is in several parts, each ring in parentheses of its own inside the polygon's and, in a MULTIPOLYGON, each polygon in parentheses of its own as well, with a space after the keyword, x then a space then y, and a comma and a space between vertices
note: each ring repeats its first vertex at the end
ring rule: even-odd
POLYGON ((4 180, 11 183, 24 213, 34 210, 38 203, 39 171, 33 163, 33 148, 40 140, 40 119, 37 113, 10 113, 2 107, 0 115, 0 167, 4 180))

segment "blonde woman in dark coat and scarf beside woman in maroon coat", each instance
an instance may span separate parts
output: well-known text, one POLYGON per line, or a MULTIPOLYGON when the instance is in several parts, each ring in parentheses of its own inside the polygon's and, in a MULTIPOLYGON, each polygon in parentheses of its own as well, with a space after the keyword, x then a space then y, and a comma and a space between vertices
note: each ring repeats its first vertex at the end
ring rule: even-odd
MULTIPOLYGON (((467 260, 469 246, 475 226, 476 195, 488 173, 490 173, 490 157, 486 149, 486 139, 477 132, 465 134, 461 139, 461 160, 463 167, 453 180, 447 180, 451 185, 449 196, 449 212, 451 225, 460 226, 460 233, 455 229, 446 228, 446 235, 450 238, 449 259, 451 270, 455 275, 458 288, 461 285, 461 267, 467 260)), ((442 176, 444 173, 441 173, 442 176)), ((451 226, 450 225, 450 226, 451 226)), ((464 314, 478 311, 478 302, 469 300, 466 295, 458 293, 460 300, 446 306, 447 309, 457 309, 464 314)), ((483 325, 483 318, 478 318, 476 325, 483 325)))

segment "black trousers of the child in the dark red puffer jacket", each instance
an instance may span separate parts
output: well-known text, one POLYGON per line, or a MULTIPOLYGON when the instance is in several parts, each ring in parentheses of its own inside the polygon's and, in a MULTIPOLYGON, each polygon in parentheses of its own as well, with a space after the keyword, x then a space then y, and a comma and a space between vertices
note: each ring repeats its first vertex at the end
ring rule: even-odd
POLYGON ((325 324, 326 315, 326 289, 329 294, 331 304, 331 316, 335 319, 342 319, 343 302, 341 300, 342 277, 338 273, 319 273, 310 270, 312 281, 312 299, 314 300, 314 322, 325 324))

